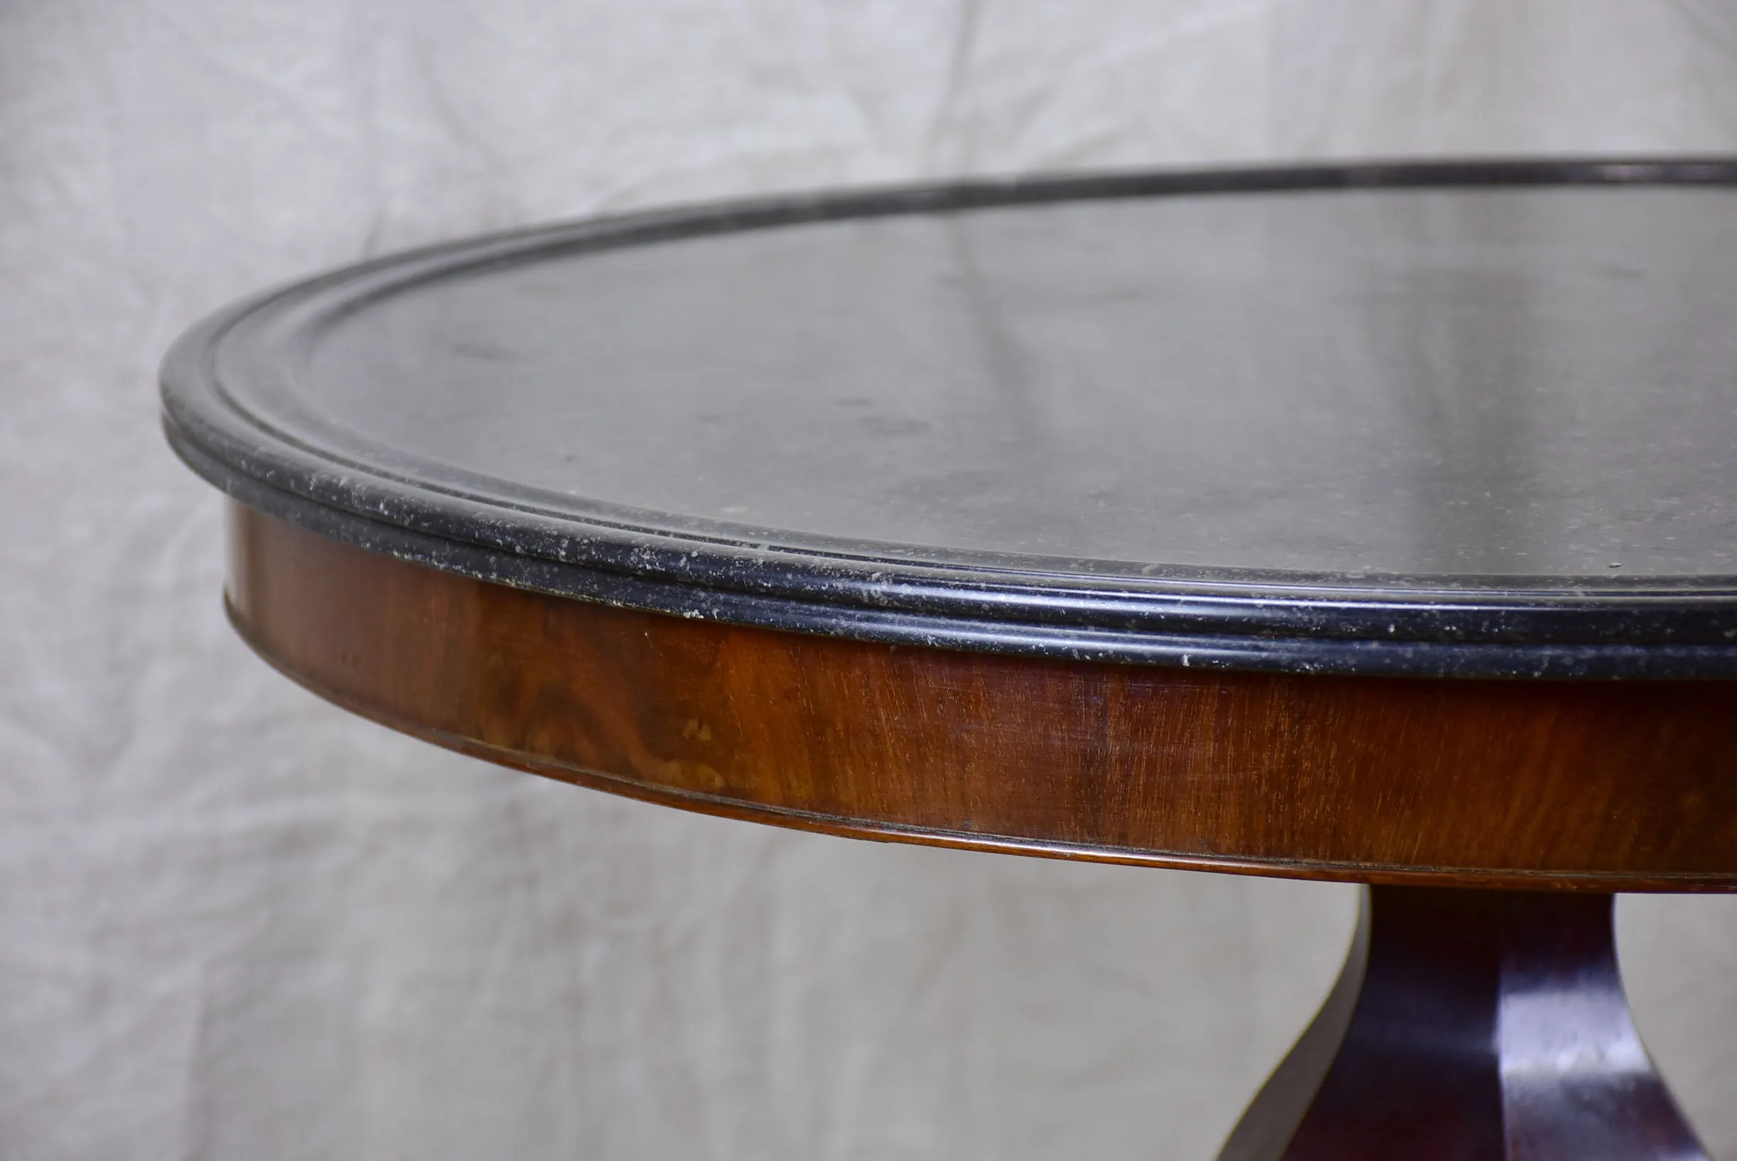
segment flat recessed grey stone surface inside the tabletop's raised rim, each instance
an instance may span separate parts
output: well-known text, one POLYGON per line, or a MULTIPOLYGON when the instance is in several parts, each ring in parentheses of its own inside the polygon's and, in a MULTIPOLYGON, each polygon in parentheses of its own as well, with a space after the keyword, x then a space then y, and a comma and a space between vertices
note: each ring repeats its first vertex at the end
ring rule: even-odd
POLYGON ((1207 195, 471 271, 238 395, 459 487, 794 534, 1730 575, 1734 320, 1723 189, 1207 195))

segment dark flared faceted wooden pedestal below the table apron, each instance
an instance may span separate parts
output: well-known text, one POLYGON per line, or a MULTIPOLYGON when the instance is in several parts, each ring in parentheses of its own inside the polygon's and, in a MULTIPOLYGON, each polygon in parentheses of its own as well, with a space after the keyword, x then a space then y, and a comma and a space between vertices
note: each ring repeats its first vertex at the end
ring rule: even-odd
POLYGON ((1641 1048, 1610 895, 1376 886, 1219 1161, 1706 1161, 1641 1048))

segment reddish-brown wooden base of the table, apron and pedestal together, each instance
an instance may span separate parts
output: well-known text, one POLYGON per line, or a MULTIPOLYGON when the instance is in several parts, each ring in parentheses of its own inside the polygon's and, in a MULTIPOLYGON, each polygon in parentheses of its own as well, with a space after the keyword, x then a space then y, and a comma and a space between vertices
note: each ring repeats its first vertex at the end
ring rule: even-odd
POLYGON ((1372 888, 1221 1161, 1702 1156, 1629 1024, 1608 892, 1737 883, 1737 683, 898 648, 486 584, 240 506, 231 534, 261 653, 493 761, 863 838, 1428 883, 1372 888))

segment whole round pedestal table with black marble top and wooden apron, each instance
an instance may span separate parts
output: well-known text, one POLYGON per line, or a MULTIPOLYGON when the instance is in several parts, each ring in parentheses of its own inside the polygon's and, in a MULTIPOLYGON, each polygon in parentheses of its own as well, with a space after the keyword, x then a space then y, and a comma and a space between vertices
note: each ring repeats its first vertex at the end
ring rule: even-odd
POLYGON ((1737 162, 820 193, 193 328, 337 704, 780 826, 1372 883, 1226 1159, 1694 1158, 1622 890, 1737 886, 1737 162))

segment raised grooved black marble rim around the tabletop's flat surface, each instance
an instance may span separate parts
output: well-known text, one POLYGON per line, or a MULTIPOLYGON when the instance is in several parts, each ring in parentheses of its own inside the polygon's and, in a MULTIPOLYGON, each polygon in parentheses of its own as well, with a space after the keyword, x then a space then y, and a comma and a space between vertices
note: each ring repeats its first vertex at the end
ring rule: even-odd
POLYGON ((165 429, 238 501, 349 544, 500 584, 801 633, 1320 673, 1737 676, 1737 579, 1384 577, 1068 561, 747 528, 479 476, 436 485, 248 412, 217 374, 281 377, 313 327, 379 295, 545 254, 896 214, 1303 189, 1732 186, 1737 160, 1410 162, 1014 177, 790 195, 492 235, 228 308, 163 365, 165 429), (1084 568, 1082 568, 1084 565, 1084 568))

